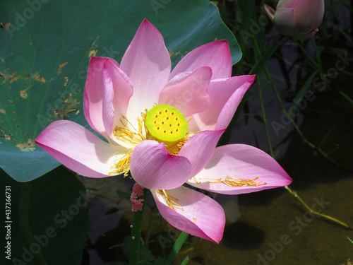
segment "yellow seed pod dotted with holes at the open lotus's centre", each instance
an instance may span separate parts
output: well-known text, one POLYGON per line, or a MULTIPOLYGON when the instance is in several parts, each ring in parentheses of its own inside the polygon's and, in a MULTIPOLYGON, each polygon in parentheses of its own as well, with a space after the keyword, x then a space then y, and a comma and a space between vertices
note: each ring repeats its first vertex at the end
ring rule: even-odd
POLYGON ((152 139, 164 143, 179 141, 188 131, 184 115, 169 105, 152 107, 146 114, 145 126, 152 139))

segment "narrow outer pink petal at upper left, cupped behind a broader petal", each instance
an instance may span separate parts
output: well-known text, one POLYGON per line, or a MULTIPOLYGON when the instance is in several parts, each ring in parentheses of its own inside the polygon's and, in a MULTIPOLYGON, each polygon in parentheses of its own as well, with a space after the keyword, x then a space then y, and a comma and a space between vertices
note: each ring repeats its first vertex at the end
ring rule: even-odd
POLYGON ((85 118, 95 131, 102 134, 106 139, 109 139, 103 122, 103 65, 104 61, 111 61, 112 64, 119 66, 114 60, 107 57, 90 57, 88 65, 87 80, 83 93, 83 112, 85 118))

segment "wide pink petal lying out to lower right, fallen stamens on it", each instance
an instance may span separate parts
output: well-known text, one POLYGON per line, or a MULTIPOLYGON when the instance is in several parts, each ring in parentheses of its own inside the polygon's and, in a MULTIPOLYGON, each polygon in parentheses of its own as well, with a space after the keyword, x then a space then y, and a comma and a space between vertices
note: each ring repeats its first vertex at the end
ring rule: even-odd
POLYGON ((198 189, 221 194, 244 194, 287 186, 292 182, 283 168, 267 153, 253 146, 229 144, 217 147, 208 165, 187 182, 198 189), (217 182, 226 177, 255 179, 256 186, 232 187, 217 182), (200 184, 196 183, 201 182, 200 184), (264 185, 260 185, 266 183, 264 185))

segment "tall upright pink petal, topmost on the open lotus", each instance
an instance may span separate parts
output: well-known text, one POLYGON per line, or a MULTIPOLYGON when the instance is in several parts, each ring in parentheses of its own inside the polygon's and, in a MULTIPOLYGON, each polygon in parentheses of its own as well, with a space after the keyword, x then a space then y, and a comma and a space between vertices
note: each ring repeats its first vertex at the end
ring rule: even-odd
POLYGON ((135 120, 140 112, 157 103, 160 91, 167 84, 171 62, 160 32, 143 20, 121 60, 121 70, 133 84, 128 105, 128 118, 135 120))

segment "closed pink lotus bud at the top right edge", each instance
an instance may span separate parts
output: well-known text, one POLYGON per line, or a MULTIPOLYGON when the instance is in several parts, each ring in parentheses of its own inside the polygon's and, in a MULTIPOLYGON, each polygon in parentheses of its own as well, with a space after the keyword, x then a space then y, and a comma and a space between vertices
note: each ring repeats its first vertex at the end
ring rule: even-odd
POLYGON ((282 34, 307 40, 318 32, 323 20, 323 0, 280 0, 277 10, 265 4, 265 11, 282 34))

